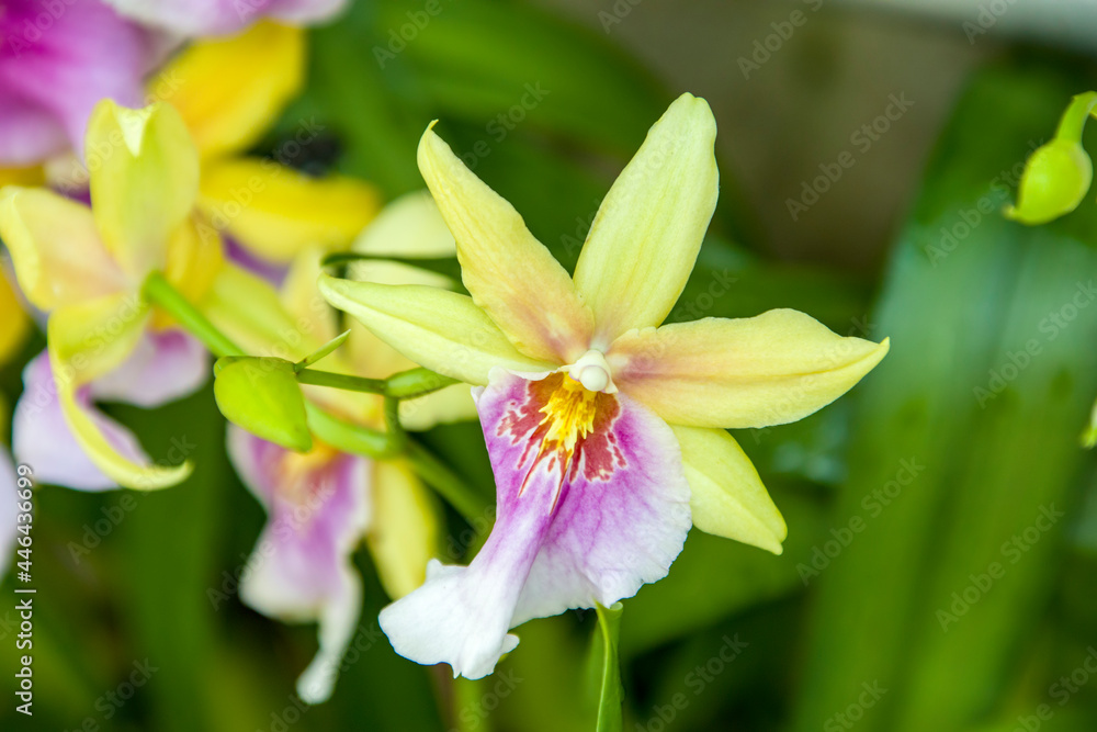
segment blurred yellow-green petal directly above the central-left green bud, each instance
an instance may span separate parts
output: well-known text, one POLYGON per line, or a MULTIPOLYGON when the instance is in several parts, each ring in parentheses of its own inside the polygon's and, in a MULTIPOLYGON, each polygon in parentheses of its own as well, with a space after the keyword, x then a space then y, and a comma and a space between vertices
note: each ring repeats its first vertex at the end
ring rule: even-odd
POLYGON ((245 352, 297 361, 324 341, 302 327, 270 282, 226 262, 199 309, 245 352))

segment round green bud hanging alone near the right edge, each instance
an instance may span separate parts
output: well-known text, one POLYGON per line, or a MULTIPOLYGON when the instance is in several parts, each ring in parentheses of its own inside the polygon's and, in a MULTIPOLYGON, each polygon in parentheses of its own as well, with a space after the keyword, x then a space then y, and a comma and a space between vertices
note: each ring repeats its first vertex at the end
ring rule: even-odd
POLYGON ((1025 164, 1017 205, 1007 206, 1005 214, 1029 225, 1054 221, 1082 203, 1093 176, 1093 162, 1081 144, 1053 139, 1025 164))

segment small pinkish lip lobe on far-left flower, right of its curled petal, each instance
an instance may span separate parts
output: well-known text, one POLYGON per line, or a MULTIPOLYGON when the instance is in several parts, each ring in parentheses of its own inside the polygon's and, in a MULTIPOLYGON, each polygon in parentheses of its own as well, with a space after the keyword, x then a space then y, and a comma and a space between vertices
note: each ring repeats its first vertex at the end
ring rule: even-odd
POLYGON ((158 407, 197 391, 212 373, 202 342, 182 330, 149 331, 126 361, 91 384, 91 396, 158 407))

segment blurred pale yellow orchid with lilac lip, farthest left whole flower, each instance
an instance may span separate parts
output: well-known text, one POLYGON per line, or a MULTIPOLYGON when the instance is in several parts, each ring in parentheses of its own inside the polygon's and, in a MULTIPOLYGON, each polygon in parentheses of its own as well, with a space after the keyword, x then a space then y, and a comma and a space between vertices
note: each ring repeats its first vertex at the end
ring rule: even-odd
POLYGON ((0 190, 0 237, 27 301, 48 313, 47 349, 24 372, 13 443, 42 482, 159 488, 189 464, 159 466, 93 399, 144 407, 179 398, 208 373, 202 346, 142 295, 152 271, 200 297, 220 266, 192 210, 197 155, 179 114, 101 102, 88 124, 89 206, 45 189, 0 190), (79 448, 79 449, 76 449, 79 448))

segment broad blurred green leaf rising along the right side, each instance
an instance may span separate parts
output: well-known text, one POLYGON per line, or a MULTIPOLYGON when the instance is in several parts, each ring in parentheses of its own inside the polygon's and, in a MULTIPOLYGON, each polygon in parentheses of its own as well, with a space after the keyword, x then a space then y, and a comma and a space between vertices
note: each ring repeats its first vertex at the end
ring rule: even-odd
POLYGON ((1066 511, 1092 464, 1077 435, 1097 392, 1097 211, 1026 227, 1000 206, 1008 171, 1092 86, 1067 68, 977 75, 900 236, 875 319, 894 347, 855 394, 833 518, 864 528, 818 579, 794 731, 863 683, 889 691, 861 732, 965 729, 1008 699, 1033 642, 1067 526, 1043 511, 1066 511))

